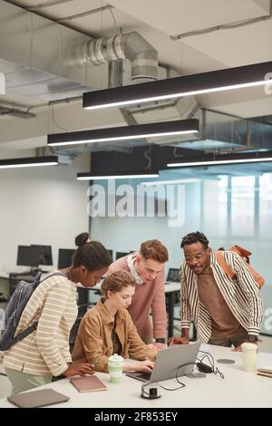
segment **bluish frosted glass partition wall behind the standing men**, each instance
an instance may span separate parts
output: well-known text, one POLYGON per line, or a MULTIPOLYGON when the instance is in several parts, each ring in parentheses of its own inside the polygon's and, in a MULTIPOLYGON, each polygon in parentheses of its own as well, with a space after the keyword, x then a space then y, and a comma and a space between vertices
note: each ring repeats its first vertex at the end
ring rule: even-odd
POLYGON ((160 185, 135 179, 95 182, 88 205, 92 239, 114 252, 129 252, 158 238, 169 249, 166 272, 180 266, 180 241, 188 232, 204 232, 213 249, 234 244, 248 248, 252 265, 266 279, 262 332, 272 334, 272 172, 214 166, 179 169, 175 175, 163 170, 160 179, 160 185))

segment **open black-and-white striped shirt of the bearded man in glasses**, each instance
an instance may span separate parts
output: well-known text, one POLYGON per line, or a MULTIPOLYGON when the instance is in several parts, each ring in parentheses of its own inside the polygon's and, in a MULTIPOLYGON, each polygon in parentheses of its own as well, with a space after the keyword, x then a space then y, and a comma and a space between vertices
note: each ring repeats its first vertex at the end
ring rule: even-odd
MULTIPOLYGON (((231 280, 223 271, 213 252, 210 267, 219 290, 230 311, 249 334, 258 335, 263 316, 263 304, 259 286, 254 281, 241 257, 236 253, 222 252, 228 266, 236 272, 237 280, 231 280)), ((201 342, 208 343, 211 336, 211 318, 206 307, 199 301, 198 276, 183 263, 180 269, 180 320, 181 328, 189 328, 193 321, 201 342)))

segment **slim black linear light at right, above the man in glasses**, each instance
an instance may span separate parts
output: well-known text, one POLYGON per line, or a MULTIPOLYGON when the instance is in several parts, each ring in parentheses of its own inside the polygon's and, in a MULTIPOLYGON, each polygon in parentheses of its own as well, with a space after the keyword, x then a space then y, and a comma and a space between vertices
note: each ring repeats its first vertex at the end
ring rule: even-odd
POLYGON ((248 152, 241 154, 204 154, 202 158, 193 157, 180 162, 171 162, 167 167, 198 167, 216 166, 218 164, 243 164, 272 161, 272 150, 262 152, 248 152))

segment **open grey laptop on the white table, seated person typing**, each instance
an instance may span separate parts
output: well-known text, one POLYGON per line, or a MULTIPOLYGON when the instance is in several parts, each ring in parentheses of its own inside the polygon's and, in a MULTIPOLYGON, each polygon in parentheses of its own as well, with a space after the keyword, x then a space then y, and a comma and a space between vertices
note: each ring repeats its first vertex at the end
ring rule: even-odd
POLYGON ((170 346, 158 352, 151 374, 130 372, 126 375, 141 382, 160 382, 188 375, 195 366, 199 346, 199 342, 170 346))

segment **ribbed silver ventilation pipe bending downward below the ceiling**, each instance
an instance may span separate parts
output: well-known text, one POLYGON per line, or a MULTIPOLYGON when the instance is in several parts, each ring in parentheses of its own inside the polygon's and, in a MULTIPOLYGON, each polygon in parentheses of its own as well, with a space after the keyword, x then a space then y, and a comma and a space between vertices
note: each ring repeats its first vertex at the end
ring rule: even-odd
POLYGON ((158 52, 136 32, 91 40, 87 55, 94 65, 129 59, 133 82, 149 82, 159 78, 158 52))

